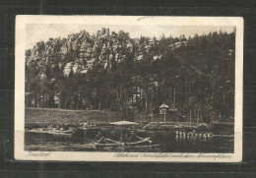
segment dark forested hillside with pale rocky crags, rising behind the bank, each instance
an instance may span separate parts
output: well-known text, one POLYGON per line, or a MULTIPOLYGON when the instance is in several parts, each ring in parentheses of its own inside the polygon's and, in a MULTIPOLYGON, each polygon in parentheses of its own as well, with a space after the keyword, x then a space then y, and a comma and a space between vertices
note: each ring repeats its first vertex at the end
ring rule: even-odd
POLYGON ((26 51, 26 106, 233 118, 235 33, 131 38, 86 30, 26 51))

